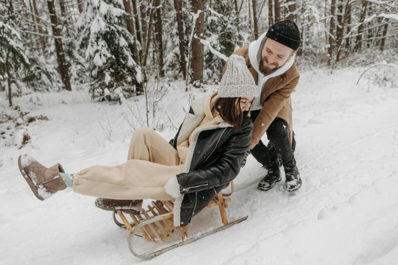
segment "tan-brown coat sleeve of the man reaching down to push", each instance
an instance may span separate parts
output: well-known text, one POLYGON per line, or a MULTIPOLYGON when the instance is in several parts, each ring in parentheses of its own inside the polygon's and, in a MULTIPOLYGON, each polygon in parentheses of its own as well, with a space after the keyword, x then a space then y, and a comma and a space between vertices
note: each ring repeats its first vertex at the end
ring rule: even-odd
POLYGON ((272 121, 278 115, 279 111, 281 111, 283 105, 295 90, 298 84, 298 78, 299 77, 293 79, 285 87, 272 93, 264 101, 263 108, 260 110, 260 113, 254 121, 253 137, 250 143, 250 149, 253 149, 258 144, 272 121))

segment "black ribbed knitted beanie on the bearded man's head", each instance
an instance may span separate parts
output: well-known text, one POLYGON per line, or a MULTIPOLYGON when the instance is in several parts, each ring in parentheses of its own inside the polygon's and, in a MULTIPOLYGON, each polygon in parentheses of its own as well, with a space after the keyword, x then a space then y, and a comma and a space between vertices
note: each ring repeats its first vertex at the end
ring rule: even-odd
POLYGON ((300 46, 300 31, 298 26, 293 20, 284 20, 277 22, 268 29, 267 38, 273 39, 279 43, 282 43, 293 50, 297 50, 300 46))

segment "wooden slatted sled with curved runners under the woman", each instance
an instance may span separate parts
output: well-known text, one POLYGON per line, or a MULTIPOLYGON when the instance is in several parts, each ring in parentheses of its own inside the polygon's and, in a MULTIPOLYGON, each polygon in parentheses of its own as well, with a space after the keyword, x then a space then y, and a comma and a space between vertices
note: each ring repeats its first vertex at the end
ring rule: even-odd
POLYGON ((113 220, 116 225, 125 228, 129 232, 128 248, 130 252, 137 258, 150 259, 166 251, 197 241, 200 238, 224 230, 232 225, 246 220, 247 216, 228 222, 225 208, 228 207, 227 204, 231 201, 231 199, 226 197, 230 196, 234 189, 233 182, 231 181, 230 183, 230 193, 223 194, 220 191, 217 196, 207 205, 207 207, 218 206, 223 225, 201 234, 200 236, 189 237, 188 226, 175 227, 173 225, 174 203, 172 201, 152 201, 151 204, 147 206, 147 209, 142 208, 141 213, 138 215, 123 213, 121 210, 114 211, 113 220), (122 222, 119 222, 116 216, 119 216, 122 222), (131 219, 132 221, 128 221, 127 218, 131 219), (169 239, 174 238, 176 234, 180 234, 176 233, 177 231, 181 231, 181 241, 178 243, 166 246, 165 248, 154 252, 144 254, 138 254, 134 250, 134 240, 138 237, 145 239, 147 242, 153 242, 155 244, 158 244, 159 242, 167 244, 169 239))

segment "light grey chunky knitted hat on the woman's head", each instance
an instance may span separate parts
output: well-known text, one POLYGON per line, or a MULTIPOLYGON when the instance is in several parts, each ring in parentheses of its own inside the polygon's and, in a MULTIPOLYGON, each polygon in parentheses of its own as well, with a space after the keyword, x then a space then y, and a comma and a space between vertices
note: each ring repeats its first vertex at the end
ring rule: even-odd
POLYGON ((227 69, 218 87, 219 97, 257 96, 258 88, 245 59, 232 54, 227 61, 227 69))

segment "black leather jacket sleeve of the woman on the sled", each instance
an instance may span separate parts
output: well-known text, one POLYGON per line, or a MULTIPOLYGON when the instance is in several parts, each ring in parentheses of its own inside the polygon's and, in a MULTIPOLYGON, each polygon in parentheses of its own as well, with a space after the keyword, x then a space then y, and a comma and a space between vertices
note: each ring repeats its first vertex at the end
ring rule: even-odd
POLYGON ((177 175, 181 194, 210 189, 234 179, 249 150, 253 123, 246 118, 240 132, 234 132, 222 145, 222 155, 211 166, 177 175))

